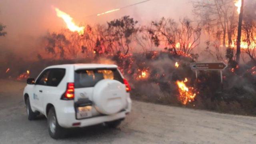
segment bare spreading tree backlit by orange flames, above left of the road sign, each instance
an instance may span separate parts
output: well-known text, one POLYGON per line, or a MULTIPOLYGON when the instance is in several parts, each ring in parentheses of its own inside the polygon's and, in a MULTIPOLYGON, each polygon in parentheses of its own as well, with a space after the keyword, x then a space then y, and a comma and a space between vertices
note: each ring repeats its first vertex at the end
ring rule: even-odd
POLYGON ((201 28, 199 24, 193 26, 193 22, 187 18, 180 19, 180 26, 173 19, 162 18, 152 22, 149 33, 156 45, 170 46, 175 54, 186 56, 199 45, 201 28))

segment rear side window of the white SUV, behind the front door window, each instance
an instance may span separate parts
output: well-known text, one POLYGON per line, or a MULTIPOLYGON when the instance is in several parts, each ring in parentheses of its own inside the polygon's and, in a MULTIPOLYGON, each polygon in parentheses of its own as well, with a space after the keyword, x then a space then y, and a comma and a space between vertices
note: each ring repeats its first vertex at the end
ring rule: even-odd
POLYGON ((58 86, 65 76, 65 68, 52 68, 48 76, 47 86, 58 86))

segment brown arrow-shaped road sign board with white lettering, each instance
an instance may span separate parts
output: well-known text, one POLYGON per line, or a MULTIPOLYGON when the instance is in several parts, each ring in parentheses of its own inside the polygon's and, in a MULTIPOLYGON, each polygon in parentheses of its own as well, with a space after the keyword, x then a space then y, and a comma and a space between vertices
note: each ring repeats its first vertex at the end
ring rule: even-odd
POLYGON ((191 63, 192 70, 224 70, 227 67, 224 62, 191 63))

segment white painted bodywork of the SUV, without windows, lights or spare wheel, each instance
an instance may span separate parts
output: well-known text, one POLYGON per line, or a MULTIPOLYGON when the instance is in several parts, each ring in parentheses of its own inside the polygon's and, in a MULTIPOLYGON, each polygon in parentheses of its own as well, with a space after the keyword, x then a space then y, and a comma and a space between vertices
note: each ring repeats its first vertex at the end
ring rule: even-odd
MULTIPOLYGON (((56 66, 49 66, 44 70, 50 68, 64 68, 66 70, 64 77, 58 86, 44 86, 37 84, 27 84, 24 88, 23 96, 25 101, 25 95, 28 95, 30 100, 31 109, 33 112, 40 112, 47 117, 47 106, 51 104, 54 106, 56 111, 56 116, 60 126, 64 128, 71 127, 84 127, 94 124, 99 124, 102 122, 108 122, 112 120, 118 120, 120 118, 125 118, 126 113, 131 111, 132 101, 130 99, 130 93, 126 92, 127 106, 125 110, 120 111, 116 114, 102 115, 95 108, 92 108, 92 117, 78 120, 76 119, 76 110, 74 107, 74 102, 76 102, 77 94, 85 92, 86 96, 92 100, 93 87, 90 88, 75 88, 75 98, 74 100, 61 100, 62 94, 64 94, 67 83, 74 82, 74 71, 80 69, 88 68, 118 68, 116 65, 109 64, 63 64, 56 66), (72 124, 80 122, 79 126, 72 126, 72 124)), ((44 70, 42 72, 44 72, 44 70)), ((38 75, 38 77, 42 74, 38 75)), ((119 70, 118 70, 119 72, 119 70)), ((120 73, 120 72, 119 72, 120 73)), ((120 73, 122 76, 122 74, 120 73)), ((38 79, 36 78, 36 80, 38 79)), ((123 76, 122 76, 123 78, 123 76)), ((35 81, 36 81, 35 80, 35 81)))

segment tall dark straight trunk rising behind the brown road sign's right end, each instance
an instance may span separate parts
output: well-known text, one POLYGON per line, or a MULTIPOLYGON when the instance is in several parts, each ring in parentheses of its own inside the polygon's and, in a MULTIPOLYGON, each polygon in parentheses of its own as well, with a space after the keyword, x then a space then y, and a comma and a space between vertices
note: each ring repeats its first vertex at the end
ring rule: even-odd
POLYGON ((240 53, 241 53, 240 43, 241 43, 241 32, 242 32, 243 9, 244 9, 244 0, 242 0, 239 20, 238 20, 238 32, 237 32, 237 42, 236 42, 236 62, 238 64, 240 61, 240 53))

